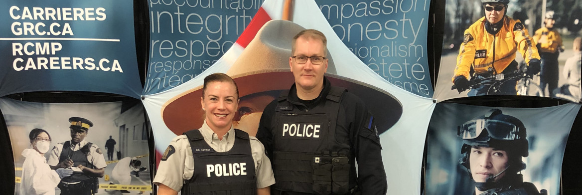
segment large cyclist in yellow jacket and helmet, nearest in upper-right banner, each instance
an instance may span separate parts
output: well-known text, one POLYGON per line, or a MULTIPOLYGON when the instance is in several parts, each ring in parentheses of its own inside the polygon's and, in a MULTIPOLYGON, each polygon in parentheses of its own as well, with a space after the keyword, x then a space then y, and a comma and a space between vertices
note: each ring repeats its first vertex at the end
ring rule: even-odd
MULTIPOLYGON (((516 51, 528 64, 528 75, 540 72, 540 55, 519 20, 507 16, 509 0, 481 0, 485 16, 465 30, 452 81, 459 93, 469 89, 469 78, 484 78, 517 70, 516 51)), ((516 95, 517 80, 499 86, 500 94, 516 95)), ((469 91, 469 96, 487 94, 487 83, 469 91)))

